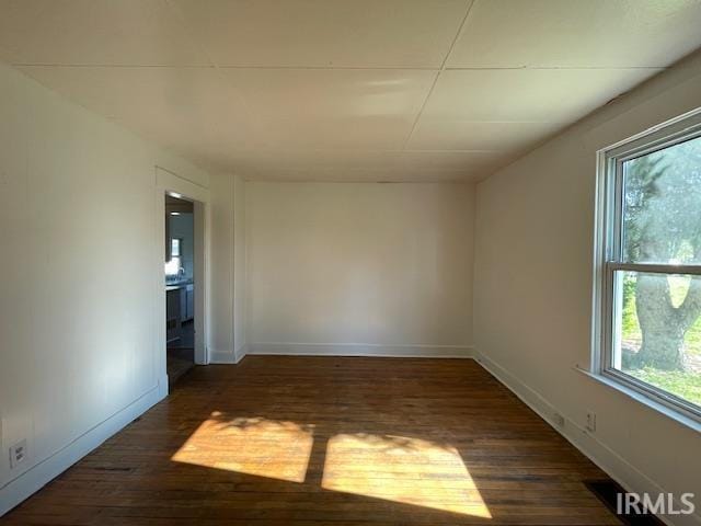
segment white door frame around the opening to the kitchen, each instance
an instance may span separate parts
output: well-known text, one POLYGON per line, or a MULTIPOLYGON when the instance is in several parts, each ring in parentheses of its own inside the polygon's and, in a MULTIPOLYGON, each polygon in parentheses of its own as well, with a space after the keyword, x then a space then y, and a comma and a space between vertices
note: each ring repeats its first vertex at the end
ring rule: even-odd
POLYGON ((165 195, 171 194, 194 205, 194 282, 195 282, 195 363, 209 364, 209 297, 210 297, 210 225, 209 188, 184 179, 164 168, 156 167, 156 237, 154 237, 154 313, 157 320, 156 368, 165 382, 165 287, 163 282, 163 242, 165 239, 165 195))

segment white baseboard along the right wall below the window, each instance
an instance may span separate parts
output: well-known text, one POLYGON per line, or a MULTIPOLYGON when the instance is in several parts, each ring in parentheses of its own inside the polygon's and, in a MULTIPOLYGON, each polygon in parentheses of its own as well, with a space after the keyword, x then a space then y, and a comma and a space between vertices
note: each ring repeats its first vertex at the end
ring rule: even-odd
MULTIPOLYGON (((594 464, 606 471, 613 480, 621 484, 625 491, 634 493, 668 493, 657 482, 625 460, 609 446, 600 442, 595 435, 587 432, 563 414, 561 410, 545 400, 538 391, 531 389, 512 373, 489 359, 483 354, 474 352, 474 359, 489 370, 497 380, 516 395, 526 405, 538 413, 558 433, 564 436, 573 446, 588 457, 594 464), (563 426, 553 420, 555 414, 565 419, 563 426)), ((675 507, 681 508, 681 503, 676 502, 675 507)), ((691 515, 663 515, 659 517, 666 524, 674 526, 701 526, 701 516, 698 513, 691 515)))

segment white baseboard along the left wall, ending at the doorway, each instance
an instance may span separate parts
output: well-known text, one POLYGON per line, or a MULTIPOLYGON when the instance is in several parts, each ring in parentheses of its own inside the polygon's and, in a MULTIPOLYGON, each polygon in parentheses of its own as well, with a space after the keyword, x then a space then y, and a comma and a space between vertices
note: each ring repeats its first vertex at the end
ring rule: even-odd
POLYGON ((139 399, 2 487, 0 489, 0 516, 41 490, 112 435, 160 402, 164 398, 163 392, 168 395, 168 377, 165 377, 164 391, 162 381, 161 379, 158 386, 151 388, 139 399))

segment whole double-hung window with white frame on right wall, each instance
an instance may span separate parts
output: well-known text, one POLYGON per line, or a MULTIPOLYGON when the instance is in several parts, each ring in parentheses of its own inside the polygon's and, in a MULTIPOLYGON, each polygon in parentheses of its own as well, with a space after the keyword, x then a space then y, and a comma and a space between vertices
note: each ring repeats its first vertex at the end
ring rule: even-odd
POLYGON ((701 114, 599 152, 596 371, 701 420, 701 114))

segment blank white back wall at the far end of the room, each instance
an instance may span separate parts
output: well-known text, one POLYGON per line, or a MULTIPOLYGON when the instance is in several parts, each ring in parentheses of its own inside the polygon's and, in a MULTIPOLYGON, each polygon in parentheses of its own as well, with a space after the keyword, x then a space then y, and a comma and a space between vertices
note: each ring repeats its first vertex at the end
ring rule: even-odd
POLYGON ((252 182, 245 196, 250 351, 472 344, 472 185, 252 182))

